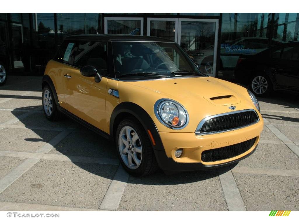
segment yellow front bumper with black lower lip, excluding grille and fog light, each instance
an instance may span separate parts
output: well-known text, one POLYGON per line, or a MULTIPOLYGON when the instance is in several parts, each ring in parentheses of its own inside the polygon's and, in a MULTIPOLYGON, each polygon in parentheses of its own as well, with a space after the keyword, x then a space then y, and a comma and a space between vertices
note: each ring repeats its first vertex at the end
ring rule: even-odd
POLYGON ((220 167, 235 163, 252 154, 257 148, 262 130, 263 120, 246 128, 203 136, 196 136, 195 133, 159 132, 165 151, 154 150, 154 152, 163 170, 189 171, 220 167), (201 154, 205 150, 222 148, 253 138, 256 138, 253 146, 242 154, 213 162, 201 160, 201 154), (183 154, 180 158, 176 158, 174 153, 179 148, 183 149, 183 154))

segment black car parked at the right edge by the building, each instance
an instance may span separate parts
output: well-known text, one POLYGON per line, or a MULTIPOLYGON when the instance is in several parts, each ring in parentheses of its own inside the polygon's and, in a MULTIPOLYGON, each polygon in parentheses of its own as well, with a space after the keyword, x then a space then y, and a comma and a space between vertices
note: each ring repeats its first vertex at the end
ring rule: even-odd
POLYGON ((299 42, 240 56, 235 78, 236 82, 249 85, 256 96, 268 96, 273 90, 299 92, 299 42))

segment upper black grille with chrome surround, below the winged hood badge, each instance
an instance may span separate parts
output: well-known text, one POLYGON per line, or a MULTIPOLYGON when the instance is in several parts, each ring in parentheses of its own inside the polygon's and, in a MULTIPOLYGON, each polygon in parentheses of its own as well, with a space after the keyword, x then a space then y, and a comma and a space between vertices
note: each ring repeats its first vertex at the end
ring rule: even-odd
POLYGON ((235 128, 241 128, 250 125, 258 120, 254 111, 244 111, 240 113, 231 113, 223 116, 210 118, 202 125, 200 134, 209 134, 213 132, 227 131, 235 128))

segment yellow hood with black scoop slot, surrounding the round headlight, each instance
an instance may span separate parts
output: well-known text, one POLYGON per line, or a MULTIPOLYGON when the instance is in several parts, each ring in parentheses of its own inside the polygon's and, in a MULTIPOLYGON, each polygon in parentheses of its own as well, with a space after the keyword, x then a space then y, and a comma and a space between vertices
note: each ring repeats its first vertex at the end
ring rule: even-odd
POLYGON ((211 115, 235 110, 254 109, 247 91, 242 86, 213 77, 186 77, 137 82, 119 82, 121 102, 133 102, 151 116, 160 132, 195 132, 199 122, 211 115), (156 119, 154 104, 159 99, 172 99, 186 108, 189 124, 172 130, 156 119))

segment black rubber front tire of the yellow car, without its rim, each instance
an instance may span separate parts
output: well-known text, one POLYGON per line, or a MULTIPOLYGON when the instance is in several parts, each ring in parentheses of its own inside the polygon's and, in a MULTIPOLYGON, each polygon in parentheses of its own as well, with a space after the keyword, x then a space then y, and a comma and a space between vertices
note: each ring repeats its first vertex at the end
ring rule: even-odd
POLYGON ((152 149, 152 145, 150 142, 150 139, 144 130, 143 126, 139 123, 136 122, 136 119, 133 118, 128 118, 120 122, 118 125, 118 128, 116 130, 116 135, 115 135, 115 148, 118 154, 118 158, 120 160, 120 163, 122 164, 123 168, 132 176, 135 177, 141 177, 141 176, 146 176, 149 174, 154 173, 155 171, 158 170, 158 164, 155 158, 154 151, 152 149), (140 145, 142 148, 142 156, 141 156, 141 163, 138 168, 136 169, 131 169, 129 168, 125 162, 123 161, 121 155, 120 155, 120 150, 119 150, 119 135, 120 131, 126 127, 129 126, 130 128, 133 128, 136 133, 139 136, 140 139, 140 145))

